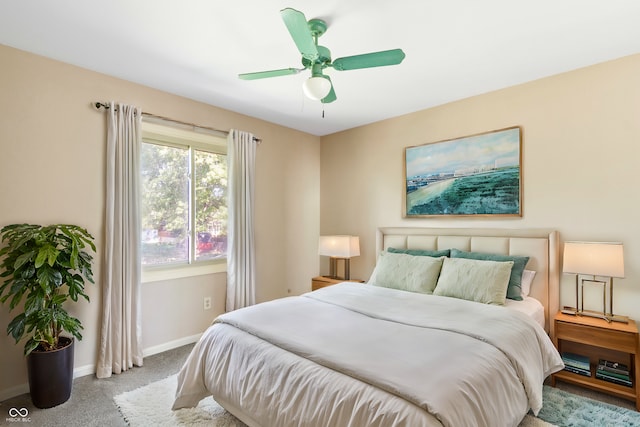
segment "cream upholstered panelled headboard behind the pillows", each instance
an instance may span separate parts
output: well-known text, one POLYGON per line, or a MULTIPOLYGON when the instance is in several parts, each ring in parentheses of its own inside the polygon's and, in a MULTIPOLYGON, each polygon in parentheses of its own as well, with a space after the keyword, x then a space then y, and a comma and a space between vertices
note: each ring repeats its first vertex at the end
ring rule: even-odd
POLYGON ((526 255, 528 270, 536 272, 530 296, 545 307, 545 329, 551 332, 559 310, 559 235, 554 230, 381 227, 376 254, 387 248, 464 251, 526 255))

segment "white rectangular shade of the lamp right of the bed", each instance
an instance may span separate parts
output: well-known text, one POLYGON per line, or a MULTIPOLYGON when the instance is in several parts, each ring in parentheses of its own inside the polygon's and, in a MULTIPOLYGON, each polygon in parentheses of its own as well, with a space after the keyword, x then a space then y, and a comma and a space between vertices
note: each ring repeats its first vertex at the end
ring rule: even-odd
POLYGON ((562 271, 622 278, 624 277, 622 243, 565 242, 562 271))

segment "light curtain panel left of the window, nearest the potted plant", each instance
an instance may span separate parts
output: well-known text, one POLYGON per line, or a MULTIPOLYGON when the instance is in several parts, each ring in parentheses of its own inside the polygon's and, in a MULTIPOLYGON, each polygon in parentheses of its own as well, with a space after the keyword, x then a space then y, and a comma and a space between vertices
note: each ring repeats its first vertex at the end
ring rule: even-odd
POLYGON ((140 313, 140 147, 142 110, 110 103, 102 328, 96 375, 142 366, 140 313))

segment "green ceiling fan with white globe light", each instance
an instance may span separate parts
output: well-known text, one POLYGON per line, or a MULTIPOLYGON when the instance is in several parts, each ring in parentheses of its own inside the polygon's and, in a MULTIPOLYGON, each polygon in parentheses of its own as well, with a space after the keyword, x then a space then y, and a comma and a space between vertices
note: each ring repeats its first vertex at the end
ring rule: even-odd
POLYGON ((335 101, 337 97, 333 90, 331 79, 322 73, 325 68, 331 67, 334 70, 346 71, 397 65, 400 64, 405 57, 402 49, 392 49, 362 55, 345 56, 332 62, 329 49, 318 45, 318 37, 327 31, 327 23, 325 21, 321 19, 311 19, 307 22, 307 18, 305 18, 302 12, 291 8, 282 9, 280 15, 282 15, 282 20, 289 30, 289 34, 291 34, 293 41, 302 54, 302 65, 304 68, 283 68, 281 70, 244 73, 238 75, 241 79, 265 79, 298 74, 304 70, 311 70, 311 77, 305 80, 303 85, 304 93, 309 98, 322 101, 326 104, 335 101))

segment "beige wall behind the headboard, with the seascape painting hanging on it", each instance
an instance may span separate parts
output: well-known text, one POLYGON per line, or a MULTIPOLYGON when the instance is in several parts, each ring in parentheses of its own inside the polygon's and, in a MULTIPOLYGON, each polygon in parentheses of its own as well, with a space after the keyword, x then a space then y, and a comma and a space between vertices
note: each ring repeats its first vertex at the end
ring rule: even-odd
MULTIPOLYGON (((360 236, 351 275, 362 279, 380 226, 554 228, 563 240, 622 241, 614 312, 640 319, 639 163, 634 55, 322 138, 321 234, 360 236), (405 147, 513 125, 523 129, 522 218, 402 218, 405 147)), ((562 304, 573 301, 571 280, 562 304)))

